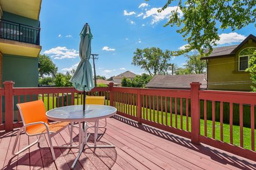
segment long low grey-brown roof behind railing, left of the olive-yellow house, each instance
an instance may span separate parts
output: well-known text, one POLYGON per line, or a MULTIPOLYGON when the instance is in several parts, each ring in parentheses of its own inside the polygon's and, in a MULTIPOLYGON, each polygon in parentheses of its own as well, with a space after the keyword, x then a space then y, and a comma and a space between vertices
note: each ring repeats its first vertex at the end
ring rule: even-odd
POLYGON ((206 74, 156 75, 145 87, 163 89, 190 89, 191 82, 199 82, 202 83, 201 89, 206 89, 206 79, 206 74))

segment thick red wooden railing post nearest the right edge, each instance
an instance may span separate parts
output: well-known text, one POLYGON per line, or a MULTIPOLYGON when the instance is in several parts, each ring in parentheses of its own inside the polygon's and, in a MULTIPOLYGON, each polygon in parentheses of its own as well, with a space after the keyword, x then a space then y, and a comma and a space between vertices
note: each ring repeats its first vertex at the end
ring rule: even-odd
POLYGON ((201 83, 190 83, 191 88, 191 142, 199 144, 200 135, 200 102, 199 102, 199 89, 201 83))

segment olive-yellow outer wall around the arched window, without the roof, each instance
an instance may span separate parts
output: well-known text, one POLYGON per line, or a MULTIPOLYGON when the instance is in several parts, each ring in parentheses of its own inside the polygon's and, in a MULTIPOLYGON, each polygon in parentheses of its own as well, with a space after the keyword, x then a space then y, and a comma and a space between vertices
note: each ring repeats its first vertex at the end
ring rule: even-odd
POLYGON ((239 82, 250 81, 249 73, 238 71, 238 55, 241 50, 247 47, 256 47, 256 43, 249 40, 233 56, 223 56, 208 60, 208 89, 251 91, 250 86, 252 83, 239 82))

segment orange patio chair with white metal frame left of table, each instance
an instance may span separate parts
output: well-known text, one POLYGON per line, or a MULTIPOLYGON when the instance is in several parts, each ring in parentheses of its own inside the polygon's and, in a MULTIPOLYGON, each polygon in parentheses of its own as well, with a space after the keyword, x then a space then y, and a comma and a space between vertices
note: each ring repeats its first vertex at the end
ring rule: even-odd
MULTIPOLYGON (((55 134, 59 133, 61 130, 65 129, 66 126, 69 128, 69 122, 58 122, 58 123, 49 123, 46 117, 46 111, 44 107, 44 103, 42 100, 30 101, 27 103, 17 104, 19 108, 20 115, 22 118, 23 126, 20 128, 19 132, 14 141, 12 155, 18 155, 22 151, 30 148, 31 146, 35 145, 39 139, 41 138, 42 134, 47 134, 49 139, 49 145, 52 153, 52 158, 55 160, 55 154, 52 146, 51 137, 55 134), (25 133, 29 136, 37 136, 37 140, 27 147, 15 152, 15 148, 17 147, 17 142, 20 136, 20 133, 25 130, 25 133), (38 137, 39 136, 39 137, 38 137)), ((71 134, 70 128, 69 132, 71 134)))

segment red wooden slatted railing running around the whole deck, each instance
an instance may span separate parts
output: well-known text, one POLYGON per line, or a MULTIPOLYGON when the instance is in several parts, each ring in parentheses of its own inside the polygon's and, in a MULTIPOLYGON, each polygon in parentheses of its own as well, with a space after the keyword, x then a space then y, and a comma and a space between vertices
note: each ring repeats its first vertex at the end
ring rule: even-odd
MULTIPOLYGON (((190 86, 190 90, 145 89, 113 87, 110 83, 109 87, 94 88, 86 95, 106 96, 106 105, 116 107, 117 114, 138 123, 256 161, 256 93, 200 90, 197 82, 190 86), (249 128, 244 126, 245 107, 250 108, 249 128), (228 123, 223 122, 227 116, 228 123), (233 120, 238 120, 238 125, 233 120)), ((83 94, 73 87, 13 88, 13 82, 4 82, 0 89, 0 130, 12 131, 22 126, 15 104, 37 99, 42 99, 49 110, 82 104, 83 94)))

